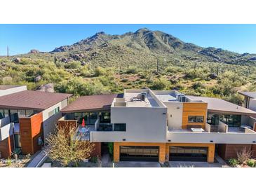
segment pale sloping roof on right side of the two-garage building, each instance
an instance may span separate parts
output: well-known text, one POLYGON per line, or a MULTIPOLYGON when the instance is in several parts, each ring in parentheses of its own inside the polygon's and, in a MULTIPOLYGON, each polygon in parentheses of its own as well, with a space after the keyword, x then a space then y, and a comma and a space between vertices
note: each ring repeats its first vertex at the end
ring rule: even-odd
POLYGON ((245 107, 238 106, 237 104, 226 102, 224 100, 213 97, 195 97, 187 96, 191 100, 202 100, 208 103, 208 111, 223 114, 245 114, 256 116, 256 111, 246 109, 245 107))

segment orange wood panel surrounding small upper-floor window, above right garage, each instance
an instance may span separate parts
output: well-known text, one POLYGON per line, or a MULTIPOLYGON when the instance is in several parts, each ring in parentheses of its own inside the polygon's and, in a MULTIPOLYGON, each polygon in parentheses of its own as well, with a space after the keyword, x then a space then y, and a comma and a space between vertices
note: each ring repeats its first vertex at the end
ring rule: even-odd
POLYGON ((183 114, 182 114, 182 128, 187 128, 187 125, 201 125, 202 128, 206 126, 207 118, 207 103, 183 103, 183 114), (203 123, 189 123, 189 116, 203 116, 203 123))

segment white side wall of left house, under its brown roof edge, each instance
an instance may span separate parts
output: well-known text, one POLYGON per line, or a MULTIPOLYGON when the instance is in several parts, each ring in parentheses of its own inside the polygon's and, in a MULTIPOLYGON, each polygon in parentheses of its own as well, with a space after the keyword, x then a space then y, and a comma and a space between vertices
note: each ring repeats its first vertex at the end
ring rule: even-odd
POLYGON ((53 109, 60 107, 60 110, 67 106, 67 99, 59 102, 58 104, 53 105, 52 107, 43 111, 43 137, 47 138, 50 132, 55 132, 56 123, 59 118, 61 118, 61 113, 55 114, 49 117, 49 112, 53 111, 53 109))

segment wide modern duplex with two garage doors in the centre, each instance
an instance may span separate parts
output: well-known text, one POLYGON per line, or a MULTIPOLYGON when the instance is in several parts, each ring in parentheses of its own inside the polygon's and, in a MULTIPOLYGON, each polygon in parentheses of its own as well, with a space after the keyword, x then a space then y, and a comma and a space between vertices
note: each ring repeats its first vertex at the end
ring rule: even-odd
POLYGON ((80 97, 61 110, 59 125, 77 127, 100 156, 114 143, 114 162, 228 159, 256 149, 256 112, 217 98, 175 90, 124 90, 122 95, 80 97), (85 122, 85 126, 81 125, 85 122))

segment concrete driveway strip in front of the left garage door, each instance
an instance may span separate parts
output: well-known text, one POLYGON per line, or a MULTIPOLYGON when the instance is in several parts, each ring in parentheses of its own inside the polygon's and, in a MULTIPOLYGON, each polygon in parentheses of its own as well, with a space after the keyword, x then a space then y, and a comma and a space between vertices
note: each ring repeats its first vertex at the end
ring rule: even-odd
POLYGON ((115 167, 161 167, 159 162, 120 161, 115 167))

